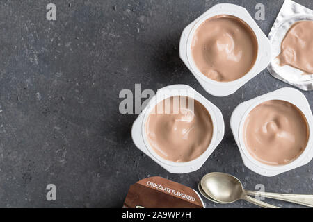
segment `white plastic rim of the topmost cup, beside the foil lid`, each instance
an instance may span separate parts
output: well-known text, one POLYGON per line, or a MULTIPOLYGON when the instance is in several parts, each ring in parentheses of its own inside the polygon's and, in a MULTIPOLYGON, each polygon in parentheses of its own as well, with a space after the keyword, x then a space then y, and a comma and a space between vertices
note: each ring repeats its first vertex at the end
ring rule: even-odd
POLYGON ((195 21, 184 28, 179 42, 179 56, 205 91, 214 96, 228 96, 236 92, 236 90, 246 84, 250 79, 257 76, 257 74, 268 66, 271 62, 271 44, 246 8, 234 4, 221 3, 213 6, 207 10, 207 12, 204 12, 198 19, 195 19, 195 21), (195 31, 204 21, 216 15, 232 15, 238 17, 252 28, 252 31, 257 37, 258 51, 255 64, 246 75, 231 82, 218 82, 204 76, 195 65, 191 54, 191 43, 195 31))

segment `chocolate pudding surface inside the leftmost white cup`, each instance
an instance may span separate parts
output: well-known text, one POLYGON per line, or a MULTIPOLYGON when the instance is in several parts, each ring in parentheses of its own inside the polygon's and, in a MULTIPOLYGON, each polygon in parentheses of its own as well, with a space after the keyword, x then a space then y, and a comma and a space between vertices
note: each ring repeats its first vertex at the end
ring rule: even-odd
POLYGON ((147 117, 145 130, 157 155, 172 162, 189 162, 207 150, 213 124, 200 102, 191 97, 172 96, 159 102, 154 111, 147 117))

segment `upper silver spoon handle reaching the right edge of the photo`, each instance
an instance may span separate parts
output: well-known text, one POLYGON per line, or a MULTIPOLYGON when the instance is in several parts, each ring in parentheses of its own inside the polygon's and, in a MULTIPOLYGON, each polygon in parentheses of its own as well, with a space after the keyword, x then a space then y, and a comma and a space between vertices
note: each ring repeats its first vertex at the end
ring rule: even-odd
POLYGON ((266 193, 259 191, 250 191, 247 190, 246 194, 248 195, 259 195, 263 194, 266 198, 272 198, 276 200, 284 200, 291 203, 297 203, 300 205, 305 205, 307 207, 313 207, 313 195, 305 195, 305 194, 275 194, 275 193, 266 193))

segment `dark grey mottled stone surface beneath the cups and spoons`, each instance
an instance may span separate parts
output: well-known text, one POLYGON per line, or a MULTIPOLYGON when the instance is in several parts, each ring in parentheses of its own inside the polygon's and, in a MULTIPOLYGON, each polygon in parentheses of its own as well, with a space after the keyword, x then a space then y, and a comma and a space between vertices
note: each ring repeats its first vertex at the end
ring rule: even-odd
MULTIPOLYGON (((312 194, 313 162, 266 178, 244 167, 230 130, 232 110, 289 85, 262 71, 235 94, 204 92, 179 59, 183 28, 216 3, 236 3, 252 16, 264 3, 268 35, 283 1, 0 1, 0 207, 122 207, 129 186, 163 176, 196 189, 211 171, 232 173, 244 187, 312 194), (118 111, 118 95, 188 84, 222 110, 225 137, 201 169, 170 174, 134 146, 136 114, 118 111), (45 189, 54 183, 56 201, 45 189)), ((313 8, 310 0, 298 3, 313 8)), ((303 92, 313 105, 313 92, 303 92)), ((255 207, 244 201, 207 207, 255 207)), ((267 200, 280 207, 298 207, 267 200)))

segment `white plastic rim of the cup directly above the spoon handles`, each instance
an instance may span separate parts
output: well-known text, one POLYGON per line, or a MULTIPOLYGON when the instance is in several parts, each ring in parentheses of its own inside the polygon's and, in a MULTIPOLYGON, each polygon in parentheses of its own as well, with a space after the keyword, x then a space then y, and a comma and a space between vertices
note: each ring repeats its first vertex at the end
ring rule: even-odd
POLYGON ((302 92, 298 91, 294 88, 282 88, 278 89, 274 92, 270 92, 268 94, 264 94, 255 99, 251 99, 250 101, 243 102, 239 104, 235 110, 232 112, 232 117, 230 118, 230 127, 232 128, 232 133, 234 135, 234 139, 236 141, 237 146, 239 147, 239 151, 243 160, 243 164, 246 165, 250 170, 255 173, 259 173, 262 176, 275 176, 280 173, 284 173, 286 171, 290 171, 291 169, 296 169, 297 167, 301 167, 312 160, 313 157, 313 117, 310 108, 310 104, 308 103, 305 96, 302 92), (307 146, 305 150, 296 160, 290 162, 285 165, 268 165, 262 162, 257 161, 246 148, 246 144, 243 141, 243 126, 246 122, 246 118, 248 114, 251 112, 253 108, 255 108, 260 103, 271 100, 282 100, 287 101, 291 104, 294 104, 305 116, 308 124, 309 130, 309 138, 307 141, 307 146))

